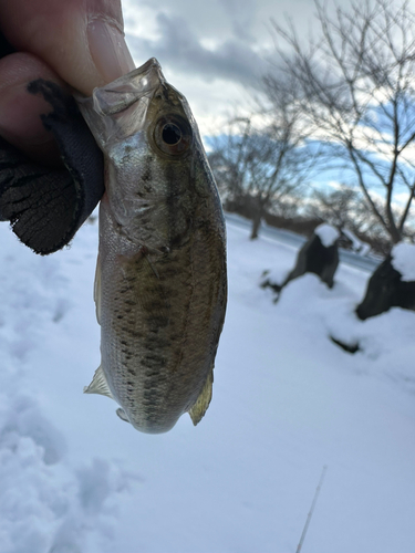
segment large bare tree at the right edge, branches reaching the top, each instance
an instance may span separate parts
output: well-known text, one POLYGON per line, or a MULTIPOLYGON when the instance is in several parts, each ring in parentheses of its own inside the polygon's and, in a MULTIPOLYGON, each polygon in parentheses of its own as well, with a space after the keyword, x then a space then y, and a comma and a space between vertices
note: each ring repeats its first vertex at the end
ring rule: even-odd
MULTIPOLYGON (((351 171, 392 242, 404 236, 415 194, 415 13, 408 2, 363 0, 330 15, 315 0, 320 34, 303 43, 273 22, 280 75, 295 83, 304 124, 328 167, 351 171), (289 46, 289 48, 287 48, 289 46), (397 195, 404 206, 394 209, 397 195)), ((268 93, 280 77, 266 79, 268 93)))

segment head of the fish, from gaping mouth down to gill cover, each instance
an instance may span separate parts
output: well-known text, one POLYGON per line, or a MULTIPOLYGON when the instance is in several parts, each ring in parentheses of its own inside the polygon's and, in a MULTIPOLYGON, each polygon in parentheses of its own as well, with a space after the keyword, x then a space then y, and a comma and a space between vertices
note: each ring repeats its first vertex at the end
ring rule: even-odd
POLYGON ((117 223, 133 234, 141 215, 153 209, 158 236, 183 234, 194 195, 208 198, 217 189, 190 107, 157 60, 76 100, 106 158, 105 188, 117 223), (167 205, 177 213, 173 231, 163 227, 167 205))

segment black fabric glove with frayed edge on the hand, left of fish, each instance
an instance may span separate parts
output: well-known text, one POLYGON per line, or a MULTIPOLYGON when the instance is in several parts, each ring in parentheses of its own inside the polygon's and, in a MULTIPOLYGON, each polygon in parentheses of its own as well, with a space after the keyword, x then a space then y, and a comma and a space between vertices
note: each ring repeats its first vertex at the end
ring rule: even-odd
MULTIPOLYGON (((0 35, 0 58, 12 46, 0 35)), ((54 135, 62 169, 37 165, 0 138, 0 220, 33 251, 52 253, 66 246, 104 194, 104 161, 73 97, 58 84, 38 80, 28 86, 53 112, 42 122, 54 135)))

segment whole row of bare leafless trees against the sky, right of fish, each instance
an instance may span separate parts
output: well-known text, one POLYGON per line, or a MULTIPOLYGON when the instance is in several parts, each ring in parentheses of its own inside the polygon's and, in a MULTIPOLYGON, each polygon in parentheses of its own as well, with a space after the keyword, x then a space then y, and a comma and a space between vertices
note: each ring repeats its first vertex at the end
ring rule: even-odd
POLYGON ((414 239, 415 13, 392 0, 315 9, 305 41, 273 22, 261 104, 229 122, 209 160, 225 206, 252 219, 251 238, 263 219, 324 220, 386 252, 414 239), (328 171, 340 184, 311 189, 328 171))

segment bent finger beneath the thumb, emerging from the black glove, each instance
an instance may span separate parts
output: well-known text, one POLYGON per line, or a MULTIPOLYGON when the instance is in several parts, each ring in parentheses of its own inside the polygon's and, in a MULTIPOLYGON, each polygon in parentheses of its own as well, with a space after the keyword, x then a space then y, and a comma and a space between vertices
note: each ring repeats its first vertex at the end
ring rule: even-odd
POLYGON ((59 150, 40 118, 52 111, 51 105, 27 90, 37 79, 63 85, 54 71, 32 54, 15 53, 0 60, 0 135, 38 163, 55 166, 59 150))

